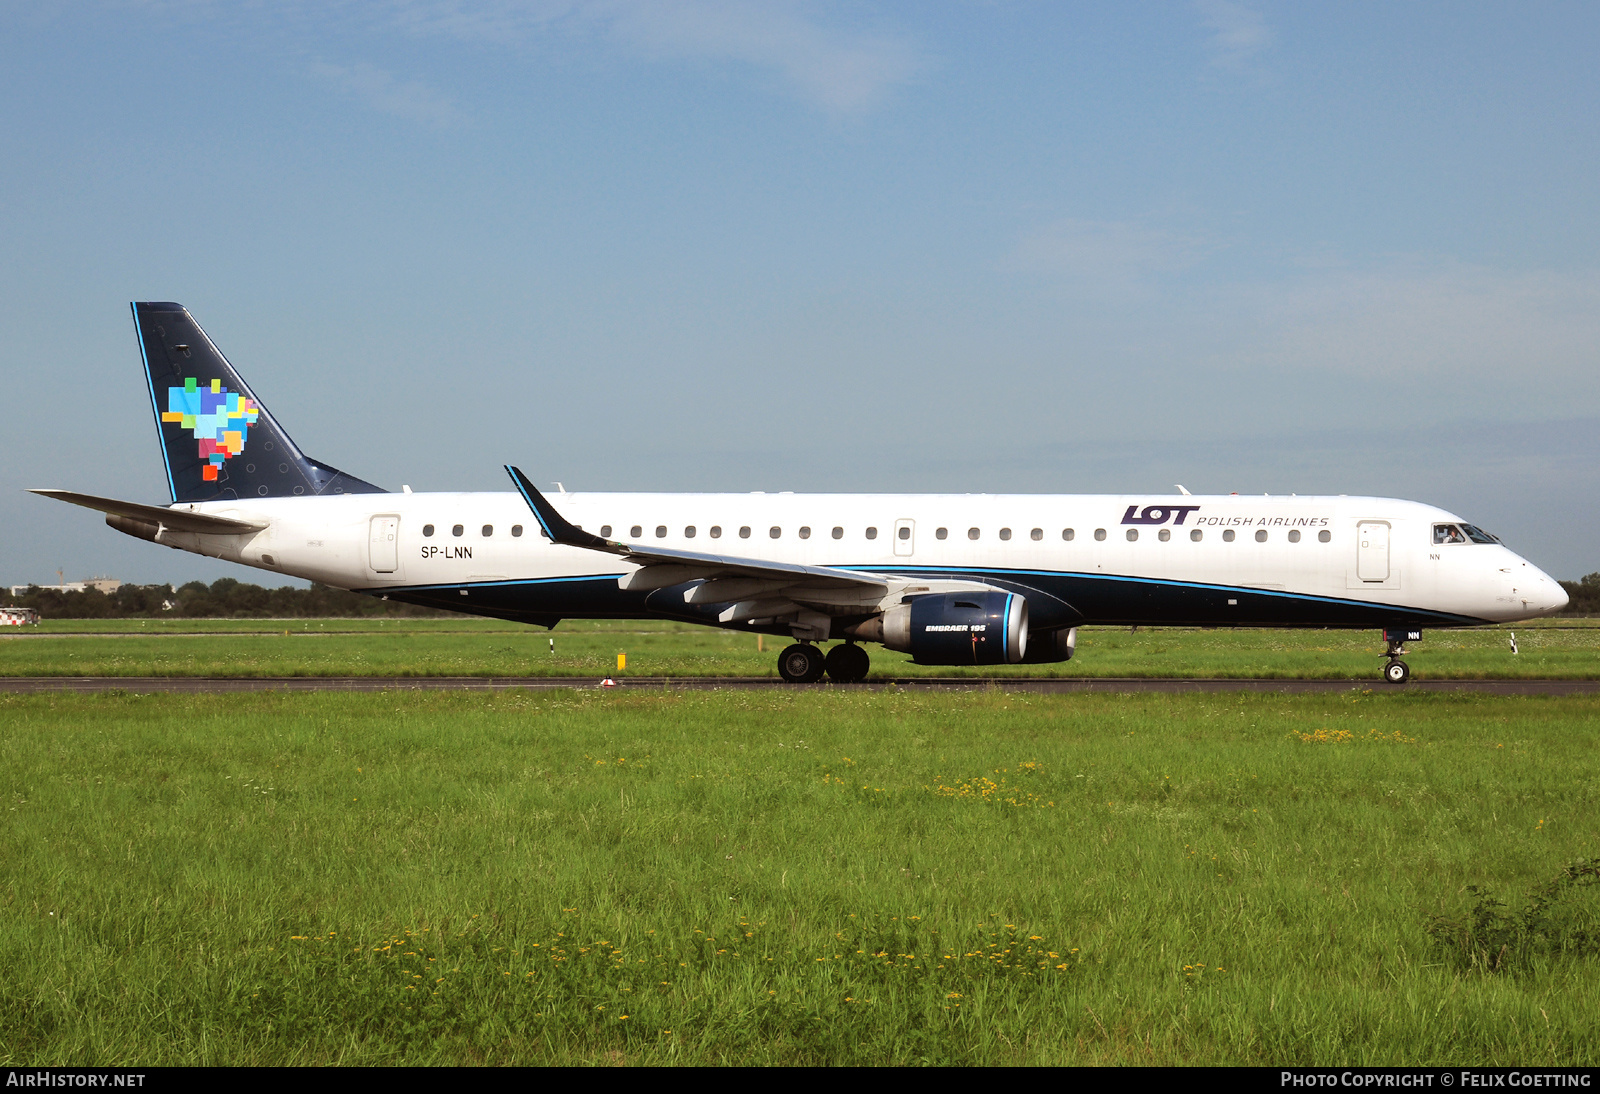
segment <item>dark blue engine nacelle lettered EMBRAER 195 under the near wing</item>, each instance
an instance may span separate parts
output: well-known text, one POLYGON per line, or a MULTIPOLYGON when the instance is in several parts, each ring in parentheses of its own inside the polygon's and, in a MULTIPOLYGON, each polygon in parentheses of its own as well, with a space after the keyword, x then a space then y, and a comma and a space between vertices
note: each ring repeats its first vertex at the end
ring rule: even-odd
POLYGON ((878 641, 918 665, 1014 665, 1027 654, 1027 600, 1008 592, 917 597, 880 625, 878 641))

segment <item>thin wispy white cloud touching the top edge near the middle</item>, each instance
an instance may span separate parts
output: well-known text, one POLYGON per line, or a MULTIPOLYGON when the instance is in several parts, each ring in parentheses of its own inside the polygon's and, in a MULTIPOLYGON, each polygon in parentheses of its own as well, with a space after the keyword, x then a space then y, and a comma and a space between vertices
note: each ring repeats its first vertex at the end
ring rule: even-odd
POLYGON ((518 45, 563 32, 656 59, 744 64, 840 112, 877 104, 922 67, 907 40, 794 0, 395 0, 390 11, 421 35, 518 45))

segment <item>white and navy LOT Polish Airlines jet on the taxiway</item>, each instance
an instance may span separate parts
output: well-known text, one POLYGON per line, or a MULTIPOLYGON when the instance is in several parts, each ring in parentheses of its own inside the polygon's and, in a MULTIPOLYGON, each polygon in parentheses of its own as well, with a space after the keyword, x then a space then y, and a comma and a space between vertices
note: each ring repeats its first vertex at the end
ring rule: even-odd
MULTIPOLYGON (((790 683, 1051 664, 1077 629, 1424 629, 1549 616, 1560 584, 1454 513, 1390 497, 390 493, 310 459, 179 304, 134 302, 170 505, 34 493, 117 531, 338 589, 555 627, 675 619, 792 640, 790 683), (822 643, 835 643, 824 653, 822 643)), ((560 486, 560 485, 557 485, 560 486)))

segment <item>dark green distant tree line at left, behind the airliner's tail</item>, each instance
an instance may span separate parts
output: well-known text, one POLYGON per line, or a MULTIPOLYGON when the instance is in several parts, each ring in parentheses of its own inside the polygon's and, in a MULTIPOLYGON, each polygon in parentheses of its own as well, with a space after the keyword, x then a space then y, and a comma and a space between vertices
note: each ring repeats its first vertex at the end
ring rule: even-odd
POLYGON ((310 589, 262 589, 222 577, 210 585, 123 585, 114 593, 98 589, 58 592, 29 585, 21 597, 0 595, 6 606, 34 608, 42 619, 328 619, 352 616, 448 616, 448 611, 402 605, 362 593, 312 585, 310 589))

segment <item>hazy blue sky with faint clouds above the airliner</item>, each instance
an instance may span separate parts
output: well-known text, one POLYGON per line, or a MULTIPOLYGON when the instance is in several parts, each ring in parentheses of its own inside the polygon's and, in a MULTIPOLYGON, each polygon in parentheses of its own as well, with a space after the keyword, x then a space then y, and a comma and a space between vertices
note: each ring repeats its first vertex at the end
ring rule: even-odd
POLYGON ((0 10, 5 584, 254 571, 130 299, 296 441, 504 489, 1344 493, 1600 569, 1600 8, 0 10))

